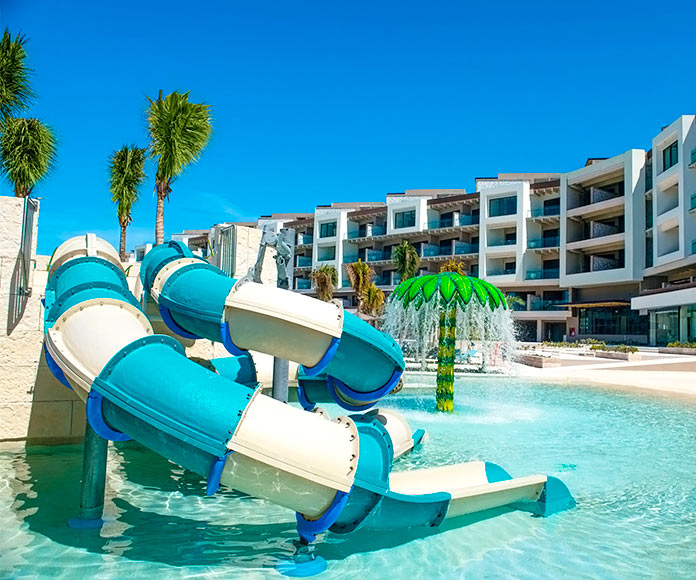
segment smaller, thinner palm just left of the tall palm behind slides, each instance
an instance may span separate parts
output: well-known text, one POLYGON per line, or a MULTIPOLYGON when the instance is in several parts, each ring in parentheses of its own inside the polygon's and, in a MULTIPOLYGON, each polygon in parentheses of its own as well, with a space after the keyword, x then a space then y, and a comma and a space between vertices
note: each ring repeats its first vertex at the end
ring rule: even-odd
POLYGON ((116 214, 121 226, 119 253, 126 261, 126 228, 131 223, 131 209, 138 200, 138 188, 145 180, 147 149, 124 145, 109 157, 109 190, 111 201, 117 204, 116 214))

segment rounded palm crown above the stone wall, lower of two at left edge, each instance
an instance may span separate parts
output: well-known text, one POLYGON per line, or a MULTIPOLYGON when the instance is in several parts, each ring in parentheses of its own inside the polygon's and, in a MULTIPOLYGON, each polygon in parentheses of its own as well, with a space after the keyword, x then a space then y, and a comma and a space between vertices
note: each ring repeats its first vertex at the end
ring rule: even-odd
POLYGON ((56 140, 38 119, 7 117, 0 135, 0 174, 14 186, 15 197, 31 195, 53 167, 56 140))

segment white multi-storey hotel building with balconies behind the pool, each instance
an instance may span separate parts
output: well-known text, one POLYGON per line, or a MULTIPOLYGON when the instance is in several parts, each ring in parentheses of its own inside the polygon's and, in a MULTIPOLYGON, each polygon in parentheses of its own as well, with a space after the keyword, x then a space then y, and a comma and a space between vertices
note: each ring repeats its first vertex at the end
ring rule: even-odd
POLYGON ((294 229, 294 289, 312 293, 310 272, 329 264, 348 306, 345 265, 368 262, 388 294, 399 283, 392 249, 408 240, 421 273, 455 258, 522 298, 514 316, 523 339, 694 342, 695 117, 679 117, 651 145, 569 173, 478 178, 474 193, 407 190, 262 216, 257 227, 294 229))

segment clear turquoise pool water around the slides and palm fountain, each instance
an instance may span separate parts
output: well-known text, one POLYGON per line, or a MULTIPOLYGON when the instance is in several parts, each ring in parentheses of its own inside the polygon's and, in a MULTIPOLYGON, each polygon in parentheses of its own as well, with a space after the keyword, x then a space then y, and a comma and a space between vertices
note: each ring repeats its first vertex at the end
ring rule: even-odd
MULTIPOLYGON (((429 412, 432 389, 384 406, 430 435, 396 469, 485 459, 562 478, 578 506, 441 533, 329 533, 319 578, 696 578, 696 401, 482 378, 457 381, 451 416, 429 412)), ((199 476, 133 443, 110 450, 107 523, 72 530, 81 462, 80 446, 0 452, 0 578, 280 578, 294 551, 294 514, 205 497, 199 476)))

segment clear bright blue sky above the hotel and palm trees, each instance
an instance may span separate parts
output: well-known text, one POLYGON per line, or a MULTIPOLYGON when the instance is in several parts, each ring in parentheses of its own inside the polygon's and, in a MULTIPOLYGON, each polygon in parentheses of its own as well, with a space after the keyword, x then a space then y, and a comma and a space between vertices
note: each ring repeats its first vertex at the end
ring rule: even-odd
MULTIPOLYGON (((213 116, 166 205, 171 234, 647 149, 696 112, 695 15, 686 2, 0 0, 2 26, 31 39, 31 114, 59 140, 36 188, 39 251, 85 230, 118 242, 107 158, 147 144, 159 89, 190 90, 213 116)), ((153 174, 129 247, 154 238, 153 174)))

